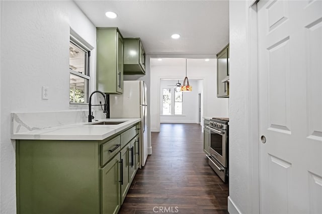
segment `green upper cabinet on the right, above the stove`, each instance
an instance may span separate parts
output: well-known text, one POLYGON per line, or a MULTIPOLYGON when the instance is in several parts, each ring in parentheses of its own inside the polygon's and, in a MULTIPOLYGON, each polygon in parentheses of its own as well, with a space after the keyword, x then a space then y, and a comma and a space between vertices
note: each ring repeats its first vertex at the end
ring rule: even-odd
POLYGON ((217 97, 229 97, 229 44, 217 54, 217 97))

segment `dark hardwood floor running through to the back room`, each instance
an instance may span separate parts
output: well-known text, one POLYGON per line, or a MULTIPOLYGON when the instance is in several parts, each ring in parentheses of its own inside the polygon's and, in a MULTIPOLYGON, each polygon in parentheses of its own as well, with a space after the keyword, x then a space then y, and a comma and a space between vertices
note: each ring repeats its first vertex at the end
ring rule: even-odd
POLYGON ((228 213, 228 184, 208 165, 199 124, 161 124, 119 213, 228 213))

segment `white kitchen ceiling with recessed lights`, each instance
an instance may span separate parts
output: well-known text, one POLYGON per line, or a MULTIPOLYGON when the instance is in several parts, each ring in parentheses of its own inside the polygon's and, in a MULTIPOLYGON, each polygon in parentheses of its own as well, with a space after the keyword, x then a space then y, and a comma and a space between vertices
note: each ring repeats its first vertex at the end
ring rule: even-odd
POLYGON ((140 37, 151 57, 214 58, 229 42, 228 1, 74 0, 96 27, 140 37), (109 19, 107 11, 118 17, 109 19), (177 33, 181 37, 172 39, 177 33))

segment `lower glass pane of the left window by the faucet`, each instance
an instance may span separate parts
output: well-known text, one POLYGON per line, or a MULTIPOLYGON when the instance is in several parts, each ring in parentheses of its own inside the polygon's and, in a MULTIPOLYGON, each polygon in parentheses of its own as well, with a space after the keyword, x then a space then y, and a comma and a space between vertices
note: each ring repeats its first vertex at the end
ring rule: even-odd
POLYGON ((70 74, 69 82, 69 102, 85 103, 89 80, 70 74))

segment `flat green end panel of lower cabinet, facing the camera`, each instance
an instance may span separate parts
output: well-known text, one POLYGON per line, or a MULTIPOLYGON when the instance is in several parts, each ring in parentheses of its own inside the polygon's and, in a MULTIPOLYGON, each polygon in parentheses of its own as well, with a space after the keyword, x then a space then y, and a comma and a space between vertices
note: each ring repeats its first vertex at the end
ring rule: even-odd
POLYGON ((17 141, 17 213, 100 213, 98 152, 95 141, 17 141))

